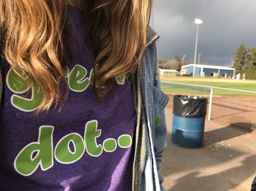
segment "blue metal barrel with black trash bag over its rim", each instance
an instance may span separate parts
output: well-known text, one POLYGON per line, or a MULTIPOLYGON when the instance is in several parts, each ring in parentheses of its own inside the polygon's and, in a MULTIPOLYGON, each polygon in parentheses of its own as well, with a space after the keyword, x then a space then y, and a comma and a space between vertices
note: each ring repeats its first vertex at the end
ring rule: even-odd
POLYGON ((186 148, 203 146, 207 98, 174 96, 172 143, 186 148))

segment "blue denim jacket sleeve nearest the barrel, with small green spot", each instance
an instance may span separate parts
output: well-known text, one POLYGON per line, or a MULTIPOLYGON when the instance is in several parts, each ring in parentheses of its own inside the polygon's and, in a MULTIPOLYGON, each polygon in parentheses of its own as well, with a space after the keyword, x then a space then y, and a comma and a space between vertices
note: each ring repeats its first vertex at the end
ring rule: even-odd
POLYGON ((161 173, 161 162, 163 157, 163 151, 167 148, 166 136, 167 136, 167 125, 165 122, 165 112, 164 108, 169 101, 169 97, 165 95, 161 91, 161 83, 160 83, 160 76, 158 70, 158 56, 157 56, 157 47, 155 44, 155 74, 153 79, 153 99, 154 99, 154 116, 155 116, 155 137, 154 137, 154 151, 156 157, 156 165, 157 165, 157 172, 158 178, 160 181, 161 190, 165 190, 162 186, 164 177, 161 173))

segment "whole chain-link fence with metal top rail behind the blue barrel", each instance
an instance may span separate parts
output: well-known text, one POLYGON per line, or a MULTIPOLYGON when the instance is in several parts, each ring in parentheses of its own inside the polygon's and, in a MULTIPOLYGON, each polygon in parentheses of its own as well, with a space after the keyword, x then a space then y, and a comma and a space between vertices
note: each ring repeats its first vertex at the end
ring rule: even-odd
POLYGON ((167 81, 161 84, 163 87, 171 87, 171 95, 183 92, 182 94, 208 97, 208 120, 232 124, 248 131, 256 130, 256 92, 254 91, 167 81))

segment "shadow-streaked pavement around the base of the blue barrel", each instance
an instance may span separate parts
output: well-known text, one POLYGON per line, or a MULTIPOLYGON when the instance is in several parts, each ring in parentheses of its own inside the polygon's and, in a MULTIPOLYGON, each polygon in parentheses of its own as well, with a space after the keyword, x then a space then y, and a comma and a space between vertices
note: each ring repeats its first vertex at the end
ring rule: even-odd
POLYGON ((256 131, 205 124, 204 146, 185 149, 171 143, 172 104, 165 108, 167 150, 162 173, 170 191, 248 191, 256 176, 256 131))

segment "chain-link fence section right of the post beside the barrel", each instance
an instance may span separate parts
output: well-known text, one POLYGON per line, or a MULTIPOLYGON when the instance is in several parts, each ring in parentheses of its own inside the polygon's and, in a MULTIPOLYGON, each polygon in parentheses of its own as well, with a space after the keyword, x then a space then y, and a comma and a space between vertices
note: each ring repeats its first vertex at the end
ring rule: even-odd
POLYGON ((213 90, 211 119, 256 130, 256 92, 213 90))

